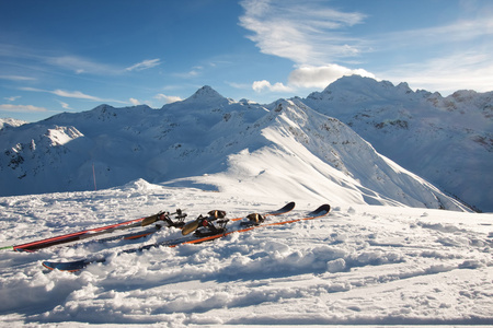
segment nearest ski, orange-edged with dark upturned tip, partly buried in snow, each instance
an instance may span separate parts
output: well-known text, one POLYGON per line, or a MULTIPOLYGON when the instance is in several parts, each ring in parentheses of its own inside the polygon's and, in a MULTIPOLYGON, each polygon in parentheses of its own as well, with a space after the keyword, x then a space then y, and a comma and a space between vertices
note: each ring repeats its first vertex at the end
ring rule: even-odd
MULTIPOLYGON (((293 207, 294 207, 294 204, 293 204, 293 207)), ((199 244, 199 243, 226 237, 233 233, 243 233, 243 232, 248 232, 248 231, 259 229, 259 227, 277 226, 277 225, 284 225, 284 224, 321 218, 321 216, 328 215, 330 210, 331 210, 331 207, 329 204, 322 204, 314 211, 308 212, 307 214, 305 214, 301 218, 290 219, 290 220, 286 220, 286 221, 279 221, 279 222, 272 222, 272 223, 265 223, 265 221, 262 221, 261 223, 251 222, 252 220, 249 218, 251 215, 248 215, 245 218, 233 219, 234 221, 240 221, 240 220, 244 219, 246 224, 241 224, 241 222, 239 222, 239 224, 237 224, 237 226, 234 229, 225 230, 223 232, 218 233, 218 234, 213 234, 213 235, 207 235, 207 236, 185 236, 185 237, 173 239, 173 241, 165 241, 162 243, 145 245, 145 246, 140 246, 137 248, 125 249, 125 250, 121 251, 121 254, 138 253, 141 250, 146 250, 146 249, 150 249, 150 248, 159 247, 159 246, 176 247, 179 245, 185 245, 185 244, 199 244)), ((273 213, 273 212, 271 212, 271 213, 273 213)), ((267 214, 271 214, 271 213, 267 213, 267 214)), ((256 215, 261 215, 261 216, 263 216, 263 219, 265 219, 265 216, 267 214, 264 214, 264 215, 256 214, 256 215)), ((271 215, 279 215, 279 214, 271 214, 271 215)), ((217 220, 225 220, 225 219, 217 219, 217 220)), ((49 270, 76 272, 76 271, 82 270, 90 263, 104 262, 105 260, 106 260, 105 256, 100 256, 100 257, 93 257, 93 258, 89 258, 89 259, 80 259, 80 260, 74 260, 74 261, 44 261, 43 266, 49 270)))

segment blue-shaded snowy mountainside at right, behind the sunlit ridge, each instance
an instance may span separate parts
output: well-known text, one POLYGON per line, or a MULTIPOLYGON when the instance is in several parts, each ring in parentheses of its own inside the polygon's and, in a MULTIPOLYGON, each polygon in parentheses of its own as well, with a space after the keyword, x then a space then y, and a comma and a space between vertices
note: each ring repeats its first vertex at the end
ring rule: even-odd
POLYGON ((493 92, 442 97, 353 75, 302 102, 440 189, 493 211, 493 92))

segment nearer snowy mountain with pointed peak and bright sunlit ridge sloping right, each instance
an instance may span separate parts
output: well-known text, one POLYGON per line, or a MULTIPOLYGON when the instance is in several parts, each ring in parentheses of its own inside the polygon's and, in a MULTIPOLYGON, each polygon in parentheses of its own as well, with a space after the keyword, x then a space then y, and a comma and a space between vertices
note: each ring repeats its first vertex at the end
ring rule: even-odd
POLYGON ((3 130, 0 195, 144 178, 257 197, 466 210, 306 103, 234 102, 204 86, 161 109, 101 105, 3 130))

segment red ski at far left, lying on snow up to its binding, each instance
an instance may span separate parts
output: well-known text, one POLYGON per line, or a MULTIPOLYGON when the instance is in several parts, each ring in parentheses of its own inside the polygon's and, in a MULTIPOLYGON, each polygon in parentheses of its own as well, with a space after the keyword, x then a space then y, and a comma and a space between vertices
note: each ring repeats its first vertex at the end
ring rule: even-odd
MULTIPOLYGON (((105 225, 105 226, 100 226, 100 227, 94 227, 94 229, 74 232, 74 233, 60 235, 60 236, 55 236, 55 237, 50 237, 50 238, 46 238, 46 239, 42 239, 42 241, 31 242, 31 243, 26 243, 26 244, 22 244, 22 245, 8 246, 8 247, 4 247, 4 249, 13 249, 16 251, 32 253, 32 251, 43 249, 46 247, 50 247, 50 246, 55 246, 55 245, 61 245, 61 244, 68 244, 68 243, 72 243, 72 242, 94 238, 94 237, 98 237, 103 234, 113 233, 115 231, 123 231, 123 230, 128 230, 128 229, 137 227, 137 226, 146 226, 146 225, 152 224, 158 221, 163 221, 164 224, 168 224, 168 226, 182 227, 185 224, 184 219, 186 218, 186 215, 187 214, 183 213, 183 211, 180 209, 176 210, 176 212, 174 212, 174 213, 159 212, 157 214, 146 216, 146 218, 135 219, 135 220, 125 221, 125 222, 105 225), (171 219, 171 215, 176 215, 175 218, 173 218, 174 221, 173 221, 173 219, 171 219)), ((137 233, 104 238, 102 241, 112 241, 112 239, 116 239, 116 238, 134 239, 134 238, 142 237, 142 236, 147 236, 156 231, 157 230, 153 230, 153 231, 148 230, 146 233, 137 232, 137 233)))

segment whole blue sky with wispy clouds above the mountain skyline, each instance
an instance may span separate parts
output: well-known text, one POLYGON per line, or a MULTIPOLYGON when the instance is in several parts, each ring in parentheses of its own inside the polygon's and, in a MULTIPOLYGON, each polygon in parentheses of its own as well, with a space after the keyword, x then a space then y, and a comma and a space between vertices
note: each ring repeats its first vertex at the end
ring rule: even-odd
POLYGON ((203 85, 271 103, 352 73, 493 91, 493 1, 0 1, 0 117, 160 108, 203 85))

